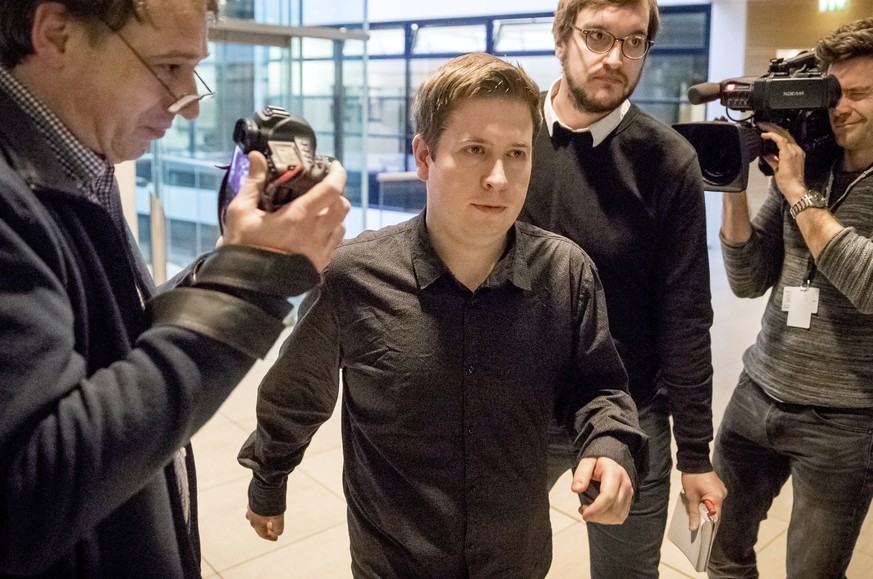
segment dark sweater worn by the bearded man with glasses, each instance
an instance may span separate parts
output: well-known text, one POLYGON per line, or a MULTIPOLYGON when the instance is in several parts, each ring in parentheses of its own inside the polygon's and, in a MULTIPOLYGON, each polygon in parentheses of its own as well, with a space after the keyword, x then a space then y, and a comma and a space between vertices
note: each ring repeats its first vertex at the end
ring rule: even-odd
POLYGON ((682 472, 711 470, 712 362, 703 183, 692 147, 631 106, 597 147, 543 124, 520 219, 569 237, 598 268, 638 403, 666 388, 682 472))

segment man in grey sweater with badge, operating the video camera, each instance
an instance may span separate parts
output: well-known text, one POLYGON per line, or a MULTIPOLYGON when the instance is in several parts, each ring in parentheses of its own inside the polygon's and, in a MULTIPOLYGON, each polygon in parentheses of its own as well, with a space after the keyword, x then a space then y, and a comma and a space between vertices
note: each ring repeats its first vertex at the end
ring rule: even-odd
POLYGON ((770 291, 762 330, 716 438, 731 495, 710 577, 757 577, 758 528, 786 480, 794 491, 788 577, 844 577, 873 493, 873 19, 815 49, 842 96, 829 110, 839 146, 828 169, 779 126, 766 201, 724 195, 722 247, 740 297, 770 291))

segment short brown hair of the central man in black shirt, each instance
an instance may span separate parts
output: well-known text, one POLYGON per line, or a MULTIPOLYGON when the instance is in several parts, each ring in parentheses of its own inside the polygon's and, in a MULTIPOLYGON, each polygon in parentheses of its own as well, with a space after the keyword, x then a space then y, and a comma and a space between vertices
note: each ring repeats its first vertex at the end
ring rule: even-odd
POLYGON ((458 56, 443 63, 419 87, 412 107, 415 130, 433 154, 449 117, 463 101, 500 98, 527 105, 535 134, 542 120, 539 93, 520 65, 484 52, 458 56))

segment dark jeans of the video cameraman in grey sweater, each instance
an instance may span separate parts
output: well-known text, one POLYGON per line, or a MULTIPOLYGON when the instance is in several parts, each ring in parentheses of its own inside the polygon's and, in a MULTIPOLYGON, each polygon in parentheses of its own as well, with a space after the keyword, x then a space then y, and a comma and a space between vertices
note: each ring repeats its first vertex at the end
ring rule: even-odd
POLYGON ((784 404, 743 372, 716 437, 729 494, 709 576, 758 577, 758 528, 791 476, 788 577, 845 577, 870 506, 871 449, 873 410, 784 404))

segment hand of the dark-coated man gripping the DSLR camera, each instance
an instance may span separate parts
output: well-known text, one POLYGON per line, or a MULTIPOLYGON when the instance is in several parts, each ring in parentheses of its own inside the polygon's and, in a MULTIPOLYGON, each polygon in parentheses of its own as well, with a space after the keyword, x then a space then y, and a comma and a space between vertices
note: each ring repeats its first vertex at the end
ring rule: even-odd
MULTIPOLYGON (((345 235, 343 219, 351 205, 342 196, 346 172, 338 161, 325 178, 304 195, 268 213, 258 209, 267 160, 249 153, 249 177, 228 205, 222 243, 239 243, 280 253, 299 253, 322 271, 345 235)), ((275 540, 275 539, 274 539, 275 540)))

